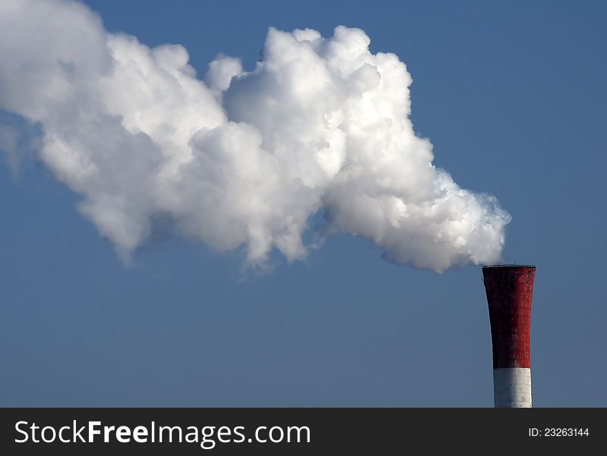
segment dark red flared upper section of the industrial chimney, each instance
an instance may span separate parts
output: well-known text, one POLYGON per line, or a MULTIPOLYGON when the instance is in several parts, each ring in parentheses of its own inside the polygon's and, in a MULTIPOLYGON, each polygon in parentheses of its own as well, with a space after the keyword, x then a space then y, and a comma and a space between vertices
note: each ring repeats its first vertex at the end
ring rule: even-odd
POLYGON ((529 325, 535 266, 483 268, 493 343, 493 368, 530 368, 529 325))

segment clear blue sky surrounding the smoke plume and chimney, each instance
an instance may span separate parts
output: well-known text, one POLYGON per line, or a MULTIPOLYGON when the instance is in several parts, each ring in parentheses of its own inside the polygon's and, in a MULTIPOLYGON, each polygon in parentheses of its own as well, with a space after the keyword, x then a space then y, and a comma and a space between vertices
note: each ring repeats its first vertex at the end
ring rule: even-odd
MULTIPOLYGON (((607 3, 86 3, 199 73, 218 52, 252 69, 268 26, 359 27, 398 54, 435 164, 510 212, 504 261, 537 264, 534 406, 607 406, 607 3)), ((492 406, 479 266, 336 235, 266 275, 180 239, 126 267, 77 201, 34 157, 0 161, 1 406, 492 406)))

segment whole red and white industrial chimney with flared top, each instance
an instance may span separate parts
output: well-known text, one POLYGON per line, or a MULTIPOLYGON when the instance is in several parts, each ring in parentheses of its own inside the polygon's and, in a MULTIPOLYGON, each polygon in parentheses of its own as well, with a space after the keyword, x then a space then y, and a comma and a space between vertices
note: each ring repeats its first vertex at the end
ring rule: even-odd
POLYGON ((484 266, 495 407, 531 406, 529 324, 535 266, 484 266))

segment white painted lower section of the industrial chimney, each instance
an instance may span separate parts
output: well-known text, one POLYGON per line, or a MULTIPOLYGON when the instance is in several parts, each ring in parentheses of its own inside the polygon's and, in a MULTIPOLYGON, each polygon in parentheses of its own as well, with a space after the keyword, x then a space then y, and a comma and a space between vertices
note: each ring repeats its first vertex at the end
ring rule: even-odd
POLYGON ((530 407, 531 369, 528 367, 493 369, 493 398, 495 407, 530 407))

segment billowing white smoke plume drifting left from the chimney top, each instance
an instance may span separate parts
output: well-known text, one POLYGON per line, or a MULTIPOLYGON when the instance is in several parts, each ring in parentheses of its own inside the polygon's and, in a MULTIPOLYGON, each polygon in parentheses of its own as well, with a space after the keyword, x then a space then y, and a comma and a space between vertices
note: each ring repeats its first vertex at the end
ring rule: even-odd
POLYGON ((270 28, 255 70, 220 55, 199 79, 182 46, 108 33, 80 3, 3 1, 0 108, 41 126, 39 158, 123 257, 168 219, 246 246, 250 264, 273 248, 302 259, 324 210, 324 235, 370 239, 397 264, 496 261, 510 216, 432 165, 406 66, 369 43, 270 28))

